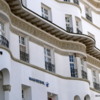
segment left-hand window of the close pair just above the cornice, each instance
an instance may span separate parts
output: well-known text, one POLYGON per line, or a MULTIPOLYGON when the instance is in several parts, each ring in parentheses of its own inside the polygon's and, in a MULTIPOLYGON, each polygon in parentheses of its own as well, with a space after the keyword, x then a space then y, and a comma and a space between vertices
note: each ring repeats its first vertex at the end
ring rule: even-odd
POLYGON ((66 22, 66 31, 72 33, 73 28, 72 28, 72 17, 71 17, 71 15, 66 15, 65 22, 66 22))

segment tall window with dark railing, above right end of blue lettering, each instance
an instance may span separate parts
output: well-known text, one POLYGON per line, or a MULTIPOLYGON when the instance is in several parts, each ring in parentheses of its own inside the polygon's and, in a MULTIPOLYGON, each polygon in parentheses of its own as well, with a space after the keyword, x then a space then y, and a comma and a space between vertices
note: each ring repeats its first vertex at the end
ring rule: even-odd
POLYGON ((53 59, 53 51, 44 48, 44 54, 45 54, 45 68, 48 71, 55 72, 55 66, 54 66, 54 59, 53 59))

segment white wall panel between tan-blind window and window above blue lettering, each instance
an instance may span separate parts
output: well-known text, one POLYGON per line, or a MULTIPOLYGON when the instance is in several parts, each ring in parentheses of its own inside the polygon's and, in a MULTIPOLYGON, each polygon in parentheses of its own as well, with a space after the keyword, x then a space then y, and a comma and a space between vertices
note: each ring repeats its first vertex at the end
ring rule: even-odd
POLYGON ((29 42, 30 63, 45 68, 44 48, 36 43, 29 42))

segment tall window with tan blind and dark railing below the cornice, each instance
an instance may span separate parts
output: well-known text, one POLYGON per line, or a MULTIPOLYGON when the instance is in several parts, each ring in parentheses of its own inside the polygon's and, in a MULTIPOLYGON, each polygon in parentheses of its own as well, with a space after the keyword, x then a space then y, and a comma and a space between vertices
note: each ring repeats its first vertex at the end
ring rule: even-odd
POLYGON ((27 53, 26 38, 19 36, 19 46, 20 46, 20 59, 29 62, 29 54, 27 53))

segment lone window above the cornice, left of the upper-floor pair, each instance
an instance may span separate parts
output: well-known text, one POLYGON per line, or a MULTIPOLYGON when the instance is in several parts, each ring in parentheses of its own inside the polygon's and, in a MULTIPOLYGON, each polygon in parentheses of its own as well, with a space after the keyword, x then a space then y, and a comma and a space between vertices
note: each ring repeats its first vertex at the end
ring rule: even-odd
POLYGON ((51 21, 51 9, 45 5, 41 5, 42 17, 51 21))

